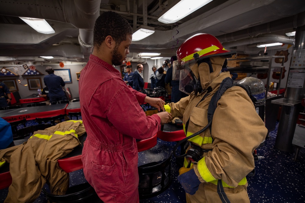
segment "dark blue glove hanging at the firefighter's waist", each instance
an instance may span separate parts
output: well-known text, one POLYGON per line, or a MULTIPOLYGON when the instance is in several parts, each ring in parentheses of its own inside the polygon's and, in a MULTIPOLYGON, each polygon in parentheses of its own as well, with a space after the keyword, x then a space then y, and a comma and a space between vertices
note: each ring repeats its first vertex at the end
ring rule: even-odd
POLYGON ((195 194, 201 183, 194 171, 194 169, 189 170, 188 172, 182 173, 178 176, 178 181, 182 185, 183 189, 188 194, 195 194))

